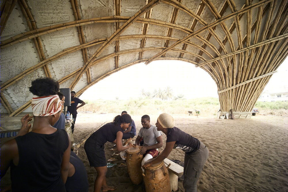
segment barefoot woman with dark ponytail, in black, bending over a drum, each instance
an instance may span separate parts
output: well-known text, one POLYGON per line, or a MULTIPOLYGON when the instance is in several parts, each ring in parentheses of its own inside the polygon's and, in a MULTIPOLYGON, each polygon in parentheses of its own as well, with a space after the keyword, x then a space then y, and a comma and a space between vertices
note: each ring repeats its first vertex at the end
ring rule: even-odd
POLYGON ((104 144, 109 141, 113 143, 116 140, 117 151, 124 151, 132 147, 132 143, 128 146, 122 146, 123 131, 126 130, 132 122, 131 116, 128 114, 118 115, 113 122, 107 123, 96 130, 84 144, 91 167, 97 171, 97 177, 94 183, 94 192, 113 191, 116 187, 108 186, 106 183, 107 163, 105 158, 104 144))

